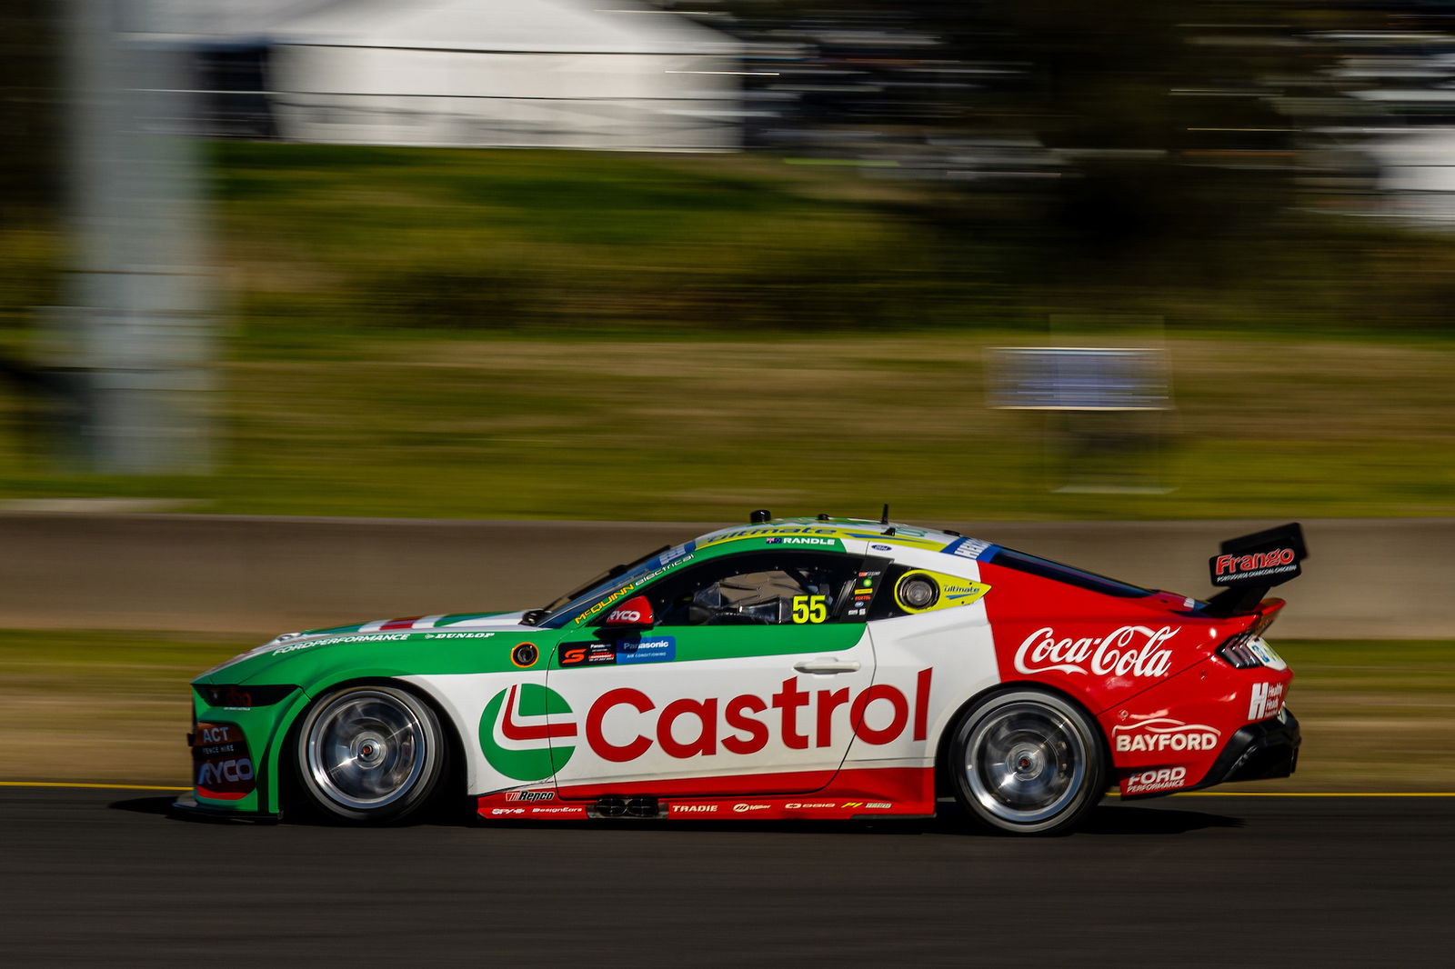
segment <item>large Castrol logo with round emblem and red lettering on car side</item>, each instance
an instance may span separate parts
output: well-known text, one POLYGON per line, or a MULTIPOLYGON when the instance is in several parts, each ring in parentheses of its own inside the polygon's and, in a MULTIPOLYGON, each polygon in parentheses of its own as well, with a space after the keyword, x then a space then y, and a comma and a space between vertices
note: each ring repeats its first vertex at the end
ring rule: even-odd
POLYGON ((796 678, 784 679, 778 691, 760 697, 745 693, 730 698, 677 698, 662 706, 630 687, 608 690, 597 697, 583 720, 554 690, 518 684, 495 694, 480 714, 480 748, 490 767, 517 780, 544 780, 563 768, 582 736, 586 748, 604 761, 624 764, 645 757, 653 746, 668 757, 716 757, 719 752, 749 755, 770 743, 806 751, 834 745, 834 713, 844 707, 854 736, 866 743, 898 741, 909 730, 915 741, 928 735, 930 681, 933 669, 915 677, 914 698, 898 687, 876 682, 857 695, 840 690, 803 690, 796 678), (776 710, 773 714, 770 710, 776 710), (615 738, 607 739, 607 722, 615 738), (684 733, 690 735, 681 739, 684 733), (557 741, 553 748, 551 741, 557 741))

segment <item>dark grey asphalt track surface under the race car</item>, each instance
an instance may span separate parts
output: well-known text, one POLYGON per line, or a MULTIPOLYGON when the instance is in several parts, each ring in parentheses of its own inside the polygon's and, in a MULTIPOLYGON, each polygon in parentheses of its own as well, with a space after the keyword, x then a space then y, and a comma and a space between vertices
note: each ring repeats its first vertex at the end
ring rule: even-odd
POLYGON ((0 787, 4 966, 1448 966, 1455 797, 1106 802, 893 824, 169 818, 0 787))

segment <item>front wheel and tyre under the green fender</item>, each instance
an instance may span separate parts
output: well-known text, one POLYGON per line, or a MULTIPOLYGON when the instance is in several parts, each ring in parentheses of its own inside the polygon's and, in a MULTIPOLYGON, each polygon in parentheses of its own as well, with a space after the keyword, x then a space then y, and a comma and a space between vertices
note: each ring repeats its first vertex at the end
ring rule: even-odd
POLYGON ((439 717, 415 694, 368 684, 335 690, 297 732, 303 794, 322 815, 358 824, 402 821, 425 808, 445 773, 439 717))

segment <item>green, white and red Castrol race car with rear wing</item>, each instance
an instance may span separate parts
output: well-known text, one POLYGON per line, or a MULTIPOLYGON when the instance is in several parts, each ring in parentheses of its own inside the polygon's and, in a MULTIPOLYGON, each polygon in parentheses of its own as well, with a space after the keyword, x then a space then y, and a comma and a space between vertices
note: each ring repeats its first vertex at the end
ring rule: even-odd
POLYGON ((185 808, 399 822, 924 818, 1074 829, 1110 789, 1288 777, 1263 640, 1298 525, 1224 543, 1202 601, 954 531, 771 518, 544 608, 288 633, 194 684, 185 808))

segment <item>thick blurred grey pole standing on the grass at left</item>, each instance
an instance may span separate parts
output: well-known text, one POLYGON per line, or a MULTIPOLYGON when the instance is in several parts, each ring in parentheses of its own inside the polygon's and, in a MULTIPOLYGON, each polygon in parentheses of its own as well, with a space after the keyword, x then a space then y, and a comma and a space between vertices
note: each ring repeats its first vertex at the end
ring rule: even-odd
POLYGON ((212 300, 189 51, 144 0, 68 4, 73 274, 52 356, 79 451, 97 473, 201 473, 212 300))

